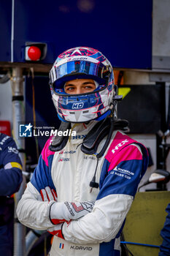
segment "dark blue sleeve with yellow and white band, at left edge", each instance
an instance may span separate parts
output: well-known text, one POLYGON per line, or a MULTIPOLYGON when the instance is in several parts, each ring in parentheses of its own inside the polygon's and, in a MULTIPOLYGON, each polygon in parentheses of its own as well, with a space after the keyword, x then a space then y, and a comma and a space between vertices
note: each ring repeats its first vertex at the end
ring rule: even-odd
POLYGON ((18 192, 23 181, 22 165, 15 141, 7 135, 0 135, 0 196, 18 192))

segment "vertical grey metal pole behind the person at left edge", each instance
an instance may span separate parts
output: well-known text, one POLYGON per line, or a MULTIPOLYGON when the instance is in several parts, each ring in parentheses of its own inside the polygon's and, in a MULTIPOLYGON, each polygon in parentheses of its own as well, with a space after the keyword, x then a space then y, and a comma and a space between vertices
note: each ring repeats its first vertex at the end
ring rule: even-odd
MULTIPOLYGON (((19 124, 25 121, 25 110, 23 104, 23 69, 15 67, 12 69, 12 119, 13 130, 12 135, 15 139, 15 143, 18 146, 20 152, 20 159, 23 164, 23 170, 26 170, 26 157, 25 157, 25 140, 19 137, 19 124)), ((23 176, 23 182, 20 186, 20 190, 15 194, 15 225, 14 225, 14 256, 26 255, 26 227, 18 222, 16 216, 16 208, 18 201, 23 195, 26 189, 26 178, 23 176)))

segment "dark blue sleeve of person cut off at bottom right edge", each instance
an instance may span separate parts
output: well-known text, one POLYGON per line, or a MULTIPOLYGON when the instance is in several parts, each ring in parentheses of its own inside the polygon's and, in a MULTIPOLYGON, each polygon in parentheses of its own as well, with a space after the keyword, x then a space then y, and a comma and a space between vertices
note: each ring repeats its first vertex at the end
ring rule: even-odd
POLYGON ((163 238, 163 243, 160 246, 159 256, 169 256, 170 255, 170 203, 166 208, 168 213, 166 221, 164 223, 163 229, 161 230, 161 236, 163 238))

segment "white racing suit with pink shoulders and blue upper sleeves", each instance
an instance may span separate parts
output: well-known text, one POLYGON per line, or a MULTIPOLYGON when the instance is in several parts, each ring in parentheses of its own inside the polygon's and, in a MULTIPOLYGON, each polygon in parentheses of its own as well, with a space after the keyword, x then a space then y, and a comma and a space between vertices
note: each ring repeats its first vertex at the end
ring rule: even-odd
MULTIPOLYGON (((39 157, 31 182, 18 204, 18 219, 37 230, 54 227, 50 222, 51 202, 42 202, 40 190, 55 189, 58 202, 95 201, 93 211, 84 217, 64 222, 64 239, 54 236, 50 256, 120 256, 120 233, 134 200, 139 181, 147 169, 147 150, 123 132, 115 131, 104 156, 98 161, 98 189, 90 192, 96 170, 96 155, 82 153, 80 143, 93 127, 75 124, 77 135, 58 152, 45 148, 39 157)), ((105 138, 98 146, 104 146, 105 138)))

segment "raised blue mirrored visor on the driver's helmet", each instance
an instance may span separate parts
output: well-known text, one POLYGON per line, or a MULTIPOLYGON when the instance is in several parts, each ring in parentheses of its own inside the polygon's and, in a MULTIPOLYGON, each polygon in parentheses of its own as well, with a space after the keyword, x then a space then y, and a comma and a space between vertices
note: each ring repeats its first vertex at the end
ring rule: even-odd
POLYGON ((63 83, 77 78, 91 78, 99 84, 106 83, 109 78, 109 67, 90 61, 69 61, 58 67, 53 67, 51 78, 56 89, 62 88, 63 83), (72 78, 71 78, 72 76, 72 78))

